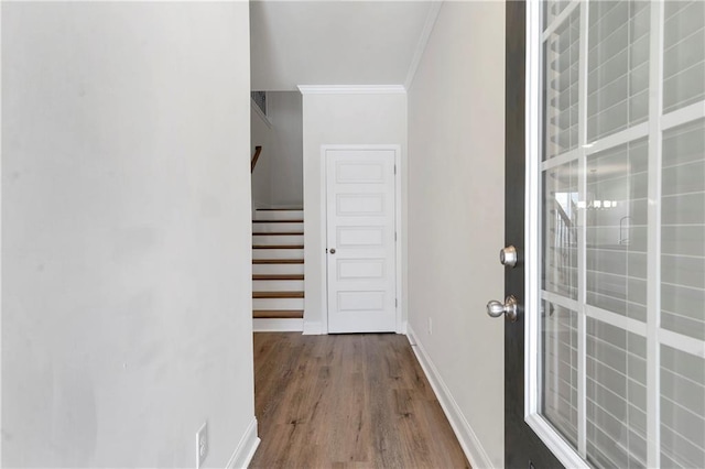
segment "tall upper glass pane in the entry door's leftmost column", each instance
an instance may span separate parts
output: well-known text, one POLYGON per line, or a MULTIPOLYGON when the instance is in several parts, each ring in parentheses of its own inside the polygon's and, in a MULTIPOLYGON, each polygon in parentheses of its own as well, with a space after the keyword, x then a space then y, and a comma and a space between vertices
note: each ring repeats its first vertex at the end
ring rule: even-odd
POLYGON ((577 146, 579 9, 544 45, 544 160, 577 146))

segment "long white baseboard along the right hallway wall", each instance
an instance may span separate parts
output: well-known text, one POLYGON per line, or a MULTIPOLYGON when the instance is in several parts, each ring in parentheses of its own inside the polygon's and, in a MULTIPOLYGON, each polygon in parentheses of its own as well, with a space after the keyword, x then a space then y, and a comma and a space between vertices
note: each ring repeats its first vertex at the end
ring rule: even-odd
POLYGON ((431 357, 429 357, 424 350, 421 341, 419 341, 419 337, 414 334, 411 325, 406 326, 406 337, 409 338, 409 343, 411 343, 411 347, 419 359, 421 368, 424 373, 426 373, 431 388, 433 388, 433 391, 441 403, 441 407, 443 407, 443 412, 448 418, 448 422, 453 427, 453 432, 458 438, 458 443, 470 462, 470 466, 477 469, 491 468, 492 462, 489 455, 487 455, 487 451, 477 438, 475 430, 473 430, 473 427, 470 427, 470 424, 468 424, 467 419, 463 415, 460 407, 453 397, 453 394, 451 394, 451 390, 448 390, 448 386, 441 378, 438 370, 433 364, 433 361, 431 361, 431 357))

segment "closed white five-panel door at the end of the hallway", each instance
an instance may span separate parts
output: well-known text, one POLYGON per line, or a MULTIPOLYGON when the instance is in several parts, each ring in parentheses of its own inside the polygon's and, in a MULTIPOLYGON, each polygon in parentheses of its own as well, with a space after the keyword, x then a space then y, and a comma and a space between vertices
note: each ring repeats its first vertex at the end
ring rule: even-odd
POLYGON ((395 150, 324 154, 328 331, 395 331, 395 150))

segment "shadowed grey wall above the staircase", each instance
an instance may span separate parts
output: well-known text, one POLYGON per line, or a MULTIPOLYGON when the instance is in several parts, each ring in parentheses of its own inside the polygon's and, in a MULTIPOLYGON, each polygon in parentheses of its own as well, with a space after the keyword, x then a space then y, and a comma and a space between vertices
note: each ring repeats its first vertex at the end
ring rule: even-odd
POLYGON ((267 102, 269 124, 252 110, 252 151, 262 145, 252 174, 252 198, 257 207, 301 207, 304 197, 301 92, 268 91, 267 102))

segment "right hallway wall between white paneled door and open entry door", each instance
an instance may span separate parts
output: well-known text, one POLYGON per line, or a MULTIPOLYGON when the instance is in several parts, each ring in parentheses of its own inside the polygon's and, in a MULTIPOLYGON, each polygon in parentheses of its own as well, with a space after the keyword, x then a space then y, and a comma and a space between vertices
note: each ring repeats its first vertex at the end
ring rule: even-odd
MULTIPOLYGON (((503 2, 445 2, 409 91, 409 325, 503 466, 503 2), (433 334, 429 334, 429 319, 433 334)), ((484 454, 482 454, 484 452, 484 454)))

